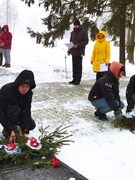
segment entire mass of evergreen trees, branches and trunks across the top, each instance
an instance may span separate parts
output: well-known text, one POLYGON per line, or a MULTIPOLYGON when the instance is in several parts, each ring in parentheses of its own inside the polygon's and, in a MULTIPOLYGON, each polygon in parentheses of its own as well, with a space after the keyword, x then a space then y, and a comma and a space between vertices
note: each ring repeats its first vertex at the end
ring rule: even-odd
MULTIPOLYGON (((29 7, 35 3, 34 0, 21 1, 29 7)), ((63 38, 65 31, 70 30, 70 25, 76 18, 90 32, 90 39, 95 40, 95 34, 99 31, 97 19, 109 13, 110 18, 103 24, 102 29, 111 35, 112 40, 119 38, 119 61, 125 64, 126 29, 130 30, 130 35, 133 35, 135 29, 135 0, 39 0, 39 6, 49 12, 49 15, 42 19, 47 31, 34 32, 30 27, 27 30, 31 37, 36 38, 37 43, 42 43, 45 47, 54 47, 55 40, 63 38)), ((129 43, 130 49, 134 49, 134 36, 129 37, 132 39, 129 43)), ((131 53, 129 50, 127 52, 131 53)))

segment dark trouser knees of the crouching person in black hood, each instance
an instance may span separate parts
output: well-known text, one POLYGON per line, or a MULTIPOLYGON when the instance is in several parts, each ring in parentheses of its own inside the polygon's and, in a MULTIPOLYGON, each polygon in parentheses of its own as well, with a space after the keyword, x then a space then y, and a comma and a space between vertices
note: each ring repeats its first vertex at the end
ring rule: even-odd
MULTIPOLYGON (((21 108, 18 105, 10 106, 7 110, 7 116, 13 125, 19 125, 19 116, 21 115, 21 108)), ((29 130, 33 130, 36 127, 35 121, 30 117, 29 130)))

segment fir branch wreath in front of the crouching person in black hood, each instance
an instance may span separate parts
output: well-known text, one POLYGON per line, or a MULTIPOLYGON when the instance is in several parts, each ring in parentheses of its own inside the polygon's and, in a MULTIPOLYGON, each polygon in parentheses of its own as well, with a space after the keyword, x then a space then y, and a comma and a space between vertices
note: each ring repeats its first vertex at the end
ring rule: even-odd
MULTIPOLYGON (((16 155, 7 154, 4 148, 0 148, 0 169, 2 170, 1 175, 24 168, 39 168, 52 164, 48 160, 50 160, 51 157, 54 157, 63 145, 69 145, 70 142, 73 142, 72 140, 68 139, 72 136, 67 132, 67 128, 69 127, 70 126, 60 126, 57 127, 53 132, 49 132, 47 130, 49 126, 46 128, 41 126, 39 129, 41 134, 38 138, 42 144, 42 148, 40 150, 31 149, 29 146, 27 146, 20 128, 16 127, 16 142, 21 149, 21 153, 16 155)), ((8 144, 8 139, 1 137, 0 144, 8 144)))

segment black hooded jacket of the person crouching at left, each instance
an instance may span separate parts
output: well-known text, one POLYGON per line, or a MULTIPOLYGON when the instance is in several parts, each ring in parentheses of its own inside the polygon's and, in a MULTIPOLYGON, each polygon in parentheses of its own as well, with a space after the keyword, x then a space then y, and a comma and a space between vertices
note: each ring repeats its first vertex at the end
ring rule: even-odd
POLYGON ((32 71, 24 70, 14 82, 6 84, 0 89, 0 123, 9 134, 13 131, 13 126, 8 120, 7 109, 12 105, 18 105, 21 108, 20 127, 23 133, 29 133, 28 122, 31 118, 32 89, 35 87, 32 71), (30 85, 30 90, 26 94, 21 94, 18 91, 18 86, 21 84, 30 85))

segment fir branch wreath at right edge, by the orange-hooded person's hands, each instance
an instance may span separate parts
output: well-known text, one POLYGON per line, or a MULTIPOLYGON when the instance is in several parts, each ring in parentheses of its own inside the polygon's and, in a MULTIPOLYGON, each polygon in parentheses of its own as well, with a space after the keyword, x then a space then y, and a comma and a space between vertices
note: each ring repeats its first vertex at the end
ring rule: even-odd
POLYGON ((131 118, 126 118, 126 116, 122 116, 121 120, 114 121, 114 127, 122 129, 129 129, 132 133, 135 134, 135 116, 131 118))

